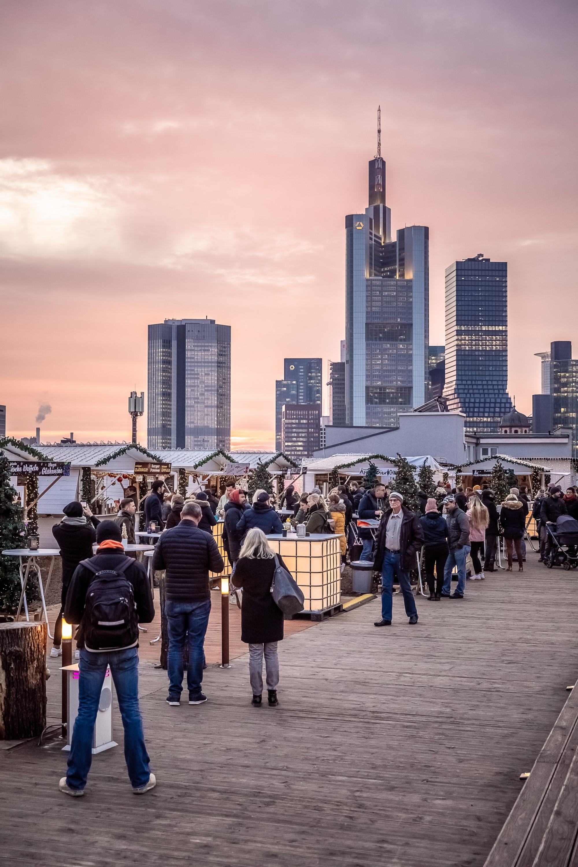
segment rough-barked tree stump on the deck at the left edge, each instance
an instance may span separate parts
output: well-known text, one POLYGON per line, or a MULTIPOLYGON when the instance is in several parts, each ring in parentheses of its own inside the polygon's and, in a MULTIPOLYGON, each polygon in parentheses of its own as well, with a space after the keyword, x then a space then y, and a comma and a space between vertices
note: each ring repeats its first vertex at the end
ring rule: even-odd
POLYGON ((0 623, 0 739, 46 727, 46 623, 0 623))

